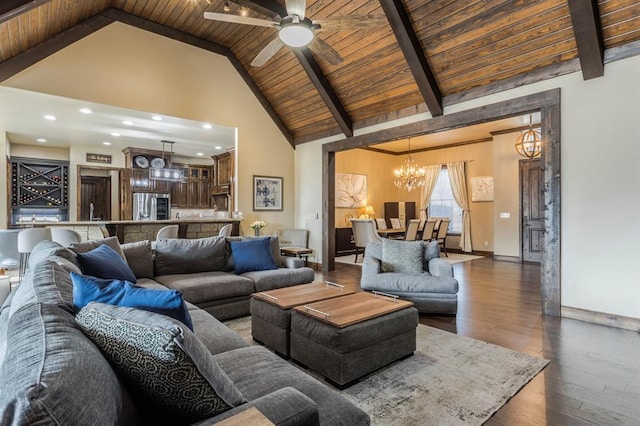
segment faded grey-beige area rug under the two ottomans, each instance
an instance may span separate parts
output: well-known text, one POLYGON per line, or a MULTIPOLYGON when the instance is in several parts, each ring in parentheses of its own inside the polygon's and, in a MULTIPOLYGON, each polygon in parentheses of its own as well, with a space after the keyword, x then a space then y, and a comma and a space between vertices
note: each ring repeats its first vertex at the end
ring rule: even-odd
MULTIPOLYGON (((226 324, 255 344, 250 317, 226 324)), ((373 425, 480 425, 548 362, 420 324, 413 356, 340 393, 373 425)))

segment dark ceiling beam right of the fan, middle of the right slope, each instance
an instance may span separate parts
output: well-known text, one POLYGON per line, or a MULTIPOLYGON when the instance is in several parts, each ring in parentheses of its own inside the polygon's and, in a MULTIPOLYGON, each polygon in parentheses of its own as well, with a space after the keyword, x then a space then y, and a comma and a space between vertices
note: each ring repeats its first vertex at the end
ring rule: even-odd
POLYGON ((413 78, 429 108, 429 112, 433 117, 442 115, 442 93, 427 63, 418 36, 413 30, 409 14, 405 10, 402 1, 380 0, 380 5, 385 15, 387 15, 391 29, 398 40, 407 64, 409 64, 409 69, 411 69, 413 78))

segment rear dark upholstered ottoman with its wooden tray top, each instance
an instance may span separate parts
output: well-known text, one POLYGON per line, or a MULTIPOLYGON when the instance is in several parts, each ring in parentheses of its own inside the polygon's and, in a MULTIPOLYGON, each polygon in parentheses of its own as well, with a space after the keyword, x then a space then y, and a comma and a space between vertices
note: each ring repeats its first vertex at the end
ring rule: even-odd
POLYGON ((289 356, 291 308, 353 294, 330 282, 314 282, 254 293, 250 301, 251 334, 283 357, 289 356))

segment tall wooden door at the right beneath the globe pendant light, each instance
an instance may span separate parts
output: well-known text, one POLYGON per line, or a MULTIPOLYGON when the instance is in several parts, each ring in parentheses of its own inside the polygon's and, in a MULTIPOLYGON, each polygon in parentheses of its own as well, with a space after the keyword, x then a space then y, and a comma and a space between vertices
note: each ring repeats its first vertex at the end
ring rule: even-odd
POLYGON ((544 191, 541 161, 520 161, 522 261, 542 261, 544 252, 544 191))

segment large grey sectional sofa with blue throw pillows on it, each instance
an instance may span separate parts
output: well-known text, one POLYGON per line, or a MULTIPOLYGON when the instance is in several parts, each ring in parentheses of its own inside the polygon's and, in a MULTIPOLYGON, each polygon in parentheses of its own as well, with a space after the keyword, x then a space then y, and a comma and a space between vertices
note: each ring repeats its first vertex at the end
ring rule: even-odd
MULTIPOLYGON (((0 425, 209 425, 250 407, 258 408, 277 425, 369 424, 368 415, 336 391, 264 347, 250 346, 210 314, 248 314, 251 292, 313 279, 308 268, 235 275, 229 245, 230 241, 216 237, 158 241, 155 259, 148 242, 120 246, 117 240, 102 240, 72 246, 73 250, 48 241, 36 246, 27 274, 0 311, 0 425), (79 313, 74 311, 70 272, 82 273, 77 253, 104 243, 126 259, 137 286, 182 291, 193 332, 177 320, 139 309, 90 303, 79 313), (171 347, 183 358, 188 354, 192 374, 222 380, 212 387, 220 398, 218 406, 225 408, 205 418, 200 411, 189 411, 188 404, 178 405, 183 411, 177 417, 150 410, 153 404, 145 399, 147 394, 132 387, 131 376, 121 369, 131 354, 116 349, 115 357, 109 355, 104 345, 110 339, 101 337, 106 332, 119 338, 136 327, 137 332, 146 330, 153 337, 147 341, 135 333, 128 336, 140 340, 145 348, 154 339, 168 342, 147 355, 164 356, 171 347)), ((137 369, 133 380, 149 380, 152 375, 145 373, 145 358, 139 359, 133 366, 137 369)), ((152 367, 173 368, 170 362, 160 364, 152 367)), ((184 379, 190 376, 179 372, 160 373, 159 377, 181 384, 176 399, 183 394, 193 396, 195 381, 184 379)), ((152 385, 151 392, 167 391, 161 383, 152 385)), ((207 407, 198 409, 207 412, 207 407)))

